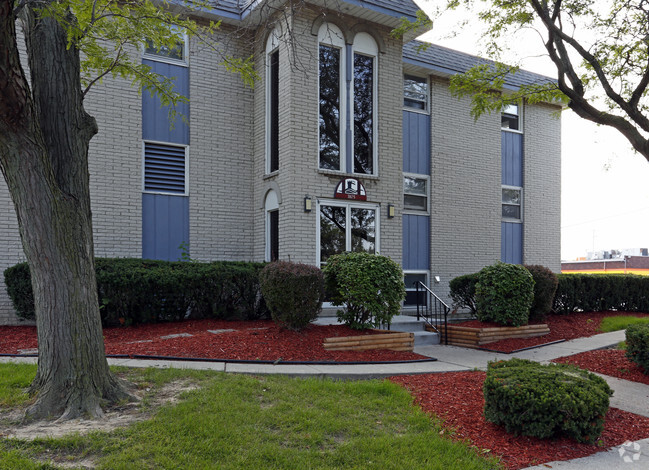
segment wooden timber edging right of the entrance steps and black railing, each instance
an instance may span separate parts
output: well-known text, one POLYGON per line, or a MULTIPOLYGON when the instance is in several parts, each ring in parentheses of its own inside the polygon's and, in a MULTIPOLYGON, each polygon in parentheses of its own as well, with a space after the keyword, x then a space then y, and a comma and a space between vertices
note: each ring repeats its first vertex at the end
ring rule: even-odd
POLYGON ((503 326, 474 328, 448 325, 448 344, 465 348, 477 348, 483 344, 510 338, 533 338, 550 333, 548 325, 503 326))

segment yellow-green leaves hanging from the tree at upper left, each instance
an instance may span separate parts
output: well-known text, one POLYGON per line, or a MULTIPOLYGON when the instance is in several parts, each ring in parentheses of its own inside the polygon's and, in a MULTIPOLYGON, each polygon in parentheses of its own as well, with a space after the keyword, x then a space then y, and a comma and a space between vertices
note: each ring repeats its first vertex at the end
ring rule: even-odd
POLYGON ((172 80, 141 64, 141 52, 146 46, 170 51, 192 39, 214 51, 221 65, 238 73, 248 86, 257 79, 250 57, 233 57, 216 42, 214 33, 220 22, 199 24, 188 16, 203 7, 209 5, 183 2, 181 13, 177 13, 175 2, 171 5, 166 0, 61 0, 48 4, 43 14, 57 19, 67 31, 68 47, 80 51, 84 94, 111 76, 157 94, 168 106, 187 98, 174 90, 172 80))

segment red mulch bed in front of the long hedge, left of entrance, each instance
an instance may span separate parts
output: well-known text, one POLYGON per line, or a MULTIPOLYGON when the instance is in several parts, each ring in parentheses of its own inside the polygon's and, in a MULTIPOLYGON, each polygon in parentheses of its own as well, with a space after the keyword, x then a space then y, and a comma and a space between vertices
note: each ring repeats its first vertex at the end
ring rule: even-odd
MULTIPOLYGON (((345 326, 311 325, 303 332, 282 329, 272 321, 195 320, 104 329, 106 354, 196 357, 265 361, 371 362, 427 359, 404 351, 326 351, 325 338, 373 334, 345 326), (210 333, 208 330, 236 331, 210 333), (191 337, 162 339, 187 333, 191 337)), ((18 354, 37 347, 36 327, 0 326, 0 353, 18 354)))

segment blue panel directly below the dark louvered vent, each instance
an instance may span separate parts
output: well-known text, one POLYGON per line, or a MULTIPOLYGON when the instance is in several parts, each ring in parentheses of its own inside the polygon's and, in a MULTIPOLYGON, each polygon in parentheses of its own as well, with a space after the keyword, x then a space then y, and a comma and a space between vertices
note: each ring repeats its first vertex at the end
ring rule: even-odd
POLYGON ((142 258, 178 261, 189 243, 189 198, 142 194, 142 258))

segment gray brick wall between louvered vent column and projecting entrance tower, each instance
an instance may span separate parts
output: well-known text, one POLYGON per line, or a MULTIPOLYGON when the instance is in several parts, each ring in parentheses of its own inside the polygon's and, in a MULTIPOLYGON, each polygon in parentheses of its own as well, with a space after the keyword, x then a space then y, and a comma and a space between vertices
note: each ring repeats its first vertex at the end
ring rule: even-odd
POLYGON ((220 50, 190 51, 190 255, 202 261, 253 258, 253 90, 220 65, 248 57, 252 41, 231 33, 216 33, 220 50))

